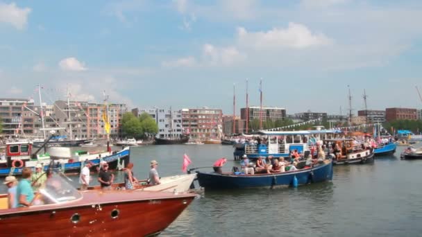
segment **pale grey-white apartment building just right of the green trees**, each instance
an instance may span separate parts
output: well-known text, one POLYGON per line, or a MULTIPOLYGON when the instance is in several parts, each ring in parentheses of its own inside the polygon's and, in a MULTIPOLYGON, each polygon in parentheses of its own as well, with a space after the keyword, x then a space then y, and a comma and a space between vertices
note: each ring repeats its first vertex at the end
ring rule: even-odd
POLYGON ((132 113, 139 117, 141 114, 149 114, 158 125, 158 134, 155 137, 169 139, 180 137, 183 134, 182 110, 171 110, 154 107, 152 109, 132 109, 132 113))

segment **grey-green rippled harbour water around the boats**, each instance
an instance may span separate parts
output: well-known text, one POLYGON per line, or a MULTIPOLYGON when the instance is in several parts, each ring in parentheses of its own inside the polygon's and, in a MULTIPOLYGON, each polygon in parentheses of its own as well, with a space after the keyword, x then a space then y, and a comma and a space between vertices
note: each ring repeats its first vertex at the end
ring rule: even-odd
MULTIPOLYGON (((332 182, 205 190, 161 236, 422 236, 422 160, 400 160, 402 150, 374 164, 335 166, 332 182)), ((152 159, 164 177, 182 173, 185 153, 189 168, 212 166, 221 157, 228 158, 223 170, 239 165, 233 148, 221 145, 133 147, 130 161, 138 179, 147 177, 152 159)))

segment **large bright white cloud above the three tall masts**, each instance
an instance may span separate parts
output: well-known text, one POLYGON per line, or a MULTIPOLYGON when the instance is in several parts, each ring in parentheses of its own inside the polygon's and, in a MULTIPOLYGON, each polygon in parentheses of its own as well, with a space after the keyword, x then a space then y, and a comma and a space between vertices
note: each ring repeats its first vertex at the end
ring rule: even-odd
POLYGON ((293 48, 305 49, 310 46, 332 44, 332 40, 322 33, 312 33, 303 24, 289 23, 288 28, 273 28, 267 32, 249 33, 245 28, 237 28, 239 44, 255 49, 293 48))

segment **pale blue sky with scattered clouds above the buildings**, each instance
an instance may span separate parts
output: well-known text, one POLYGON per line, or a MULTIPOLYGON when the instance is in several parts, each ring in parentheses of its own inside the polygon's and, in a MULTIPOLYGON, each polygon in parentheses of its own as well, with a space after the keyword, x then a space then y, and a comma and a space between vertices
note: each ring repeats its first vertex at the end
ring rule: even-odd
MULTIPOLYGON (((0 97, 133 107, 422 108, 422 1, 0 0, 0 97)), ((236 114, 239 114, 237 109, 236 114)))

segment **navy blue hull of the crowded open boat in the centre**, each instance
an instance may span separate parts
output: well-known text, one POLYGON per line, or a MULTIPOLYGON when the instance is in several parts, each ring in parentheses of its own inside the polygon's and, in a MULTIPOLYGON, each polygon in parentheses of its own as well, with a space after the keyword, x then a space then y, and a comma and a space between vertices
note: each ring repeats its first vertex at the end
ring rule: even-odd
POLYGON ((294 177, 298 185, 332 180, 332 161, 326 164, 285 173, 271 173, 259 175, 233 175, 219 173, 203 173, 196 171, 200 186, 211 189, 227 188, 258 188, 292 186, 294 177))

